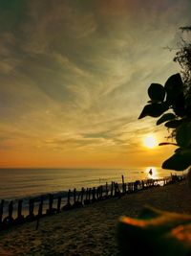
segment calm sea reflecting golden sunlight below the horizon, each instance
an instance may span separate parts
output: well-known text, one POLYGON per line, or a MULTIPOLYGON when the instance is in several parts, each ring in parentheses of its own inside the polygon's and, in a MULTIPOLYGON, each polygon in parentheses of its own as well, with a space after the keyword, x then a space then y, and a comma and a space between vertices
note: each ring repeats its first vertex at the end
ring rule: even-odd
MULTIPOLYGON (((94 187, 105 182, 160 178, 176 172, 152 168, 132 169, 0 169, 0 199, 28 198, 37 195, 94 187)), ((179 173, 180 175, 180 173, 179 173)))

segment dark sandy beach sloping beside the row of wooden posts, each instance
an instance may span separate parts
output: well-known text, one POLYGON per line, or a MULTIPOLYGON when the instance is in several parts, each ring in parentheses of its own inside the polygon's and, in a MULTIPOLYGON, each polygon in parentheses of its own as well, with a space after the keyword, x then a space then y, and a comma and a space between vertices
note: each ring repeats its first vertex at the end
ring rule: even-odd
POLYGON ((122 198, 102 200, 0 232, 0 255, 117 255, 117 221, 137 217, 144 205, 191 214, 191 190, 185 181, 150 188, 122 198))

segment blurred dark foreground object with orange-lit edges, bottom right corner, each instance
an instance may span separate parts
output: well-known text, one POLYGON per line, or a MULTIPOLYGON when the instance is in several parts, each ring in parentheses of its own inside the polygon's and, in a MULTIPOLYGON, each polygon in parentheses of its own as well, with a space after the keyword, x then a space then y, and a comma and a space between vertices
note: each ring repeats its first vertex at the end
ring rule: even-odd
POLYGON ((191 215, 143 208, 138 219, 121 217, 117 225, 121 256, 191 255, 191 215))

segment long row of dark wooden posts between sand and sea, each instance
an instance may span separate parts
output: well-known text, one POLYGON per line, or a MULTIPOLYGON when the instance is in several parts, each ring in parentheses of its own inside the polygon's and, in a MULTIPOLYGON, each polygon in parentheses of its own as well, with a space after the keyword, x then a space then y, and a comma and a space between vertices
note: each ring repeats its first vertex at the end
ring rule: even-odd
POLYGON ((60 194, 50 194, 48 197, 48 204, 45 204, 45 197, 42 196, 38 198, 38 210, 36 213, 34 213, 34 203, 36 204, 35 198, 30 198, 28 203, 28 213, 26 215, 24 215, 23 212, 23 200, 19 199, 16 205, 13 205, 12 200, 9 202, 8 213, 7 216, 4 217, 5 200, 2 199, 0 202, 0 230, 6 229, 13 224, 35 220, 37 220, 37 228, 39 219, 42 217, 57 214, 60 211, 68 211, 74 208, 79 208, 99 200, 104 200, 107 198, 120 198, 123 195, 136 193, 140 190, 149 189, 159 185, 172 184, 179 182, 184 178, 185 175, 171 175, 160 179, 136 180, 134 182, 125 183, 124 176, 122 175, 122 183, 120 184, 112 181, 110 185, 106 182, 105 185, 87 189, 82 188, 81 191, 76 191, 76 189, 74 189, 74 191, 69 190, 66 201, 64 201, 63 196, 60 194), (15 218, 13 218, 13 211, 16 211, 15 218))

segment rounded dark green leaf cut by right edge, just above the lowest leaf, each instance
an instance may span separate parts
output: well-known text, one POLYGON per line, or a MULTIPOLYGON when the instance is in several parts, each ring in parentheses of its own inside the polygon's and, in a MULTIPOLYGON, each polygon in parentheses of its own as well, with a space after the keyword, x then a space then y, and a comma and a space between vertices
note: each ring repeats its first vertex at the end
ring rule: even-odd
POLYGON ((180 147, 191 147, 191 122, 183 123, 177 128, 176 140, 180 147))

